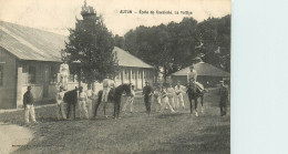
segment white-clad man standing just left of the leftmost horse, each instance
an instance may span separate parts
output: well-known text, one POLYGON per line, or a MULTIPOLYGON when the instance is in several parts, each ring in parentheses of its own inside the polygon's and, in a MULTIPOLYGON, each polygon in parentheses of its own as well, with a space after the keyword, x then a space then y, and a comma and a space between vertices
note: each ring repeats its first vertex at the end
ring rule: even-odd
POLYGON ((61 115, 64 120, 66 119, 63 97, 64 97, 64 91, 63 91, 63 86, 61 85, 59 88, 59 92, 56 93, 56 117, 58 117, 58 120, 61 119, 61 115))

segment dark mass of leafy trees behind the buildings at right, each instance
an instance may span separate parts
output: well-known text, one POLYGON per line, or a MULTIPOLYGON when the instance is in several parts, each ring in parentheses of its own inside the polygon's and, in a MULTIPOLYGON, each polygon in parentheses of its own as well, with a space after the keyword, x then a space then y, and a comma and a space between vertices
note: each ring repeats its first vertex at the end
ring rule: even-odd
POLYGON ((229 71, 230 16, 209 18, 199 23, 193 18, 184 18, 179 23, 140 25, 125 33, 122 45, 162 71, 164 78, 191 65, 196 57, 229 71), (218 47, 219 53, 215 52, 218 47))

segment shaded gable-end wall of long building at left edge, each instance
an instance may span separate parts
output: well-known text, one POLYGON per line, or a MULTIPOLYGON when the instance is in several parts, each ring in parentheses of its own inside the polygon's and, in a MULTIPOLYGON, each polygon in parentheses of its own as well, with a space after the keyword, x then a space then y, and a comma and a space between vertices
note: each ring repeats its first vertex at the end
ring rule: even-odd
POLYGON ((3 66, 3 85, 0 85, 0 109, 13 109, 16 104, 17 59, 0 48, 0 65, 3 66))

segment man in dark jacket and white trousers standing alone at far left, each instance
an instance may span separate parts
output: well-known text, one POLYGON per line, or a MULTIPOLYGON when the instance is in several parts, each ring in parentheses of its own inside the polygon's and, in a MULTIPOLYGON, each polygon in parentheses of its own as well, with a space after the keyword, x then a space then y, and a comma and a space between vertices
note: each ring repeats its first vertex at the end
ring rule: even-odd
POLYGON ((25 110, 25 123, 29 123, 29 114, 31 115, 31 119, 33 123, 37 123, 35 121, 35 112, 34 112, 34 97, 31 92, 31 86, 28 86, 27 92, 23 95, 23 105, 25 110))

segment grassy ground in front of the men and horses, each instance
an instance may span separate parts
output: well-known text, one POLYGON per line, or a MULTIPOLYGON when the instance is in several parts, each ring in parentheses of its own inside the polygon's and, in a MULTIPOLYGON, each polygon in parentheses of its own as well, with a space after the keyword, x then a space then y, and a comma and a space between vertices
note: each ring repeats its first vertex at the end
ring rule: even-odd
MULTIPOLYGON (((55 106, 35 110, 38 124, 24 125, 23 111, 1 113, 0 122, 23 125, 34 137, 14 153, 230 153, 230 114, 219 116, 216 91, 204 99, 204 113, 189 114, 185 95, 185 110, 176 113, 145 114, 142 97, 134 101, 134 113, 121 112, 120 120, 103 116, 91 120, 58 121, 55 106)), ((123 103, 122 103, 123 105, 123 103)), ((198 109, 200 104, 198 103, 198 109)), ((112 115, 113 105, 109 105, 112 115)))

